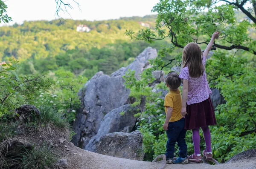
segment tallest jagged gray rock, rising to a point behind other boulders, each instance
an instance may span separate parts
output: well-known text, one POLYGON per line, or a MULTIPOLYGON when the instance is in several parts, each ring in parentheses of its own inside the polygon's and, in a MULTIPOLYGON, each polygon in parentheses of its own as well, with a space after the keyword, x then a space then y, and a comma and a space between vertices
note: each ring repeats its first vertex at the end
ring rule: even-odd
POLYGON ((130 103, 130 90, 125 88, 122 78, 128 69, 135 70, 138 78, 139 74, 147 69, 149 59, 157 57, 156 49, 146 48, 133 63, 126 68, 121 68, 111 74, 111 76, 96 73, 81 89, 81 108, 77 111, 76 121, 73 123, 77 133, 72 142, 81 148, 89 143, 90 138, 95 136, 99 130, 103 117, 111 110, 130 103))

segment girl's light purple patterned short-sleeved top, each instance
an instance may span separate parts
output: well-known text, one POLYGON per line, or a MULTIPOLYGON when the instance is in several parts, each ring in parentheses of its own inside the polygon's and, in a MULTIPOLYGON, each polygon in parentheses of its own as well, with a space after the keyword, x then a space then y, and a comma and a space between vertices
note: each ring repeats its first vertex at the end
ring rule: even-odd
MULTIPOLYGON (((204 67, 206 63, 206 57, 203 57, 202 60, 204 67)), ((211 89, 209 88, 209 84, 206 79, 206 73, 204 69, 204 74, 201 77, 190 77, 189 76, 189 68, 188 66, 184 67, 180 71, 181 79, 189 80, 189 92, 187 104, 200 103, 209 98, 209 95, 212 94, 211 89)))

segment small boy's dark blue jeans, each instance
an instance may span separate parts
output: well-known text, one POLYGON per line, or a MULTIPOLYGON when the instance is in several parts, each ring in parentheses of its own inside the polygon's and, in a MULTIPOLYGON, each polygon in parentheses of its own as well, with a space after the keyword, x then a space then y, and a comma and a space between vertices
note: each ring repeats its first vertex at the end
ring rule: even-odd
POLYGON ((179 146, 179 155, 181 158, 187 156, 187 145, 186 145, 186 130, 184 129, 185 119, 182 118, 178 121, 169 122, 168 130, 166 130, 167 143, 166 143, 166 158, 174 157, 175 143, 179 146))

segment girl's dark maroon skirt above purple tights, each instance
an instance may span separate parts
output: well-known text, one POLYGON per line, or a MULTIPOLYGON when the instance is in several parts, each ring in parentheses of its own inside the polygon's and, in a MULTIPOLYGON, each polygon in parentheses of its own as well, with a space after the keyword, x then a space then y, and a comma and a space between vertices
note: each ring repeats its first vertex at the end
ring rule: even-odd
POLYGON ((210 97, 200 103, 188 105, 186 112, 185 129, 187 130, 217 124, 210 97))

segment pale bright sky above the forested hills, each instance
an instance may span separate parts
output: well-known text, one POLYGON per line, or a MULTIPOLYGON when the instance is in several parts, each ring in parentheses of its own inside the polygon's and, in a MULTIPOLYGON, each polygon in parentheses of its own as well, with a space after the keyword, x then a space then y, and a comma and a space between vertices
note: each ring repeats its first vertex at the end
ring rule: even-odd
MULTIPOLYGON (((24 20, 55 20, 55 0, 3 0, 8 6, 7 14, 12 17, 14 24, 23 23, 24 20)), ((152 7, 159 0, 76 0, 79 7, 73 0, 69 2, 73 9, 67 8, 73 20, 109 20, 119 17, 145 16, 151 13, 152 7)), ((69 14, 60 13, 63 18, 70 18, 69 14)), ((0 26, 3 26, 0 23, 0 26)))

